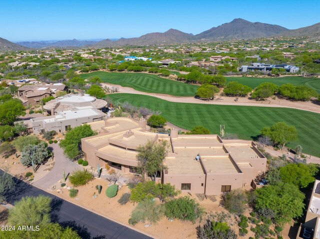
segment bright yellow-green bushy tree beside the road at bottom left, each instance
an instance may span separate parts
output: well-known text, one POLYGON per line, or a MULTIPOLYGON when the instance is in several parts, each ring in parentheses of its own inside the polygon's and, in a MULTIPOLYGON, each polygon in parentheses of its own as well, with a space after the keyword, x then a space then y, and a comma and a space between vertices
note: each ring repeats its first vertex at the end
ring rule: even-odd
POLYGON ((42 226, 50 223, 51 199, 47 196, 24 197, 9 210, 8 225, 42 226))

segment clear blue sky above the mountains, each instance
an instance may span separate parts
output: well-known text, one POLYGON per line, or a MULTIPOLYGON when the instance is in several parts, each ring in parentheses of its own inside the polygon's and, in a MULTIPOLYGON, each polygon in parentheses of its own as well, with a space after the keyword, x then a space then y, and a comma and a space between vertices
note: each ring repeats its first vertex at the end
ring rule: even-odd
POLYGON ((137 37, 169 28, 197 34, 234 18, 289 29, 320 22, 320 0, 0 0, 0 37, 137 37))

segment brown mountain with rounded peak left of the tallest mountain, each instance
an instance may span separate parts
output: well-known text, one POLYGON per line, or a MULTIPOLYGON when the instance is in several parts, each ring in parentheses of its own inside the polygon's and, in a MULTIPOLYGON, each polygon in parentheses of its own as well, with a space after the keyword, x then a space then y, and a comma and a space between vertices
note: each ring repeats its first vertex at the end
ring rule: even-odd
POLYGON ((169 29, 165 32, 147 33, 140 37, 120 38, 112 41, 102 40, 94 44, 95 46, 116 46, 116 45, 160 45, 173 43, 186 43, 193 40, 193 34, 184 33, 179 30, 169 29))

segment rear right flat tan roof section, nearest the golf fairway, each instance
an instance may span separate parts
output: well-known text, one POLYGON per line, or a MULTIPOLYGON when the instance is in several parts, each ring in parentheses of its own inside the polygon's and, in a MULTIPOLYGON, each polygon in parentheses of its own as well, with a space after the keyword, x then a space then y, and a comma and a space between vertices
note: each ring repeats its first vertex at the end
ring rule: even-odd
POLYGON ((251 144, 224 144, 225 149, 236 159, 255 159, 260 156, 253 150, 251 144))

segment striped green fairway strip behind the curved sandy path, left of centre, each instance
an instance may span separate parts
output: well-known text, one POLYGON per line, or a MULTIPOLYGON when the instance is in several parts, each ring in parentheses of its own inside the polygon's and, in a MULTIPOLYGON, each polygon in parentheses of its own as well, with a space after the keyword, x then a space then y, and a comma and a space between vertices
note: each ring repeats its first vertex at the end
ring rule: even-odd
POLYGON ((88 74, 81 74, 80 77, 87 79, 98 76, 103 82, 131 87, 138 91, 168 94, 174 96, 194 96, 198 86, 182 83, 179 81, 161 78, 145 73, 120 73, 96 71, 88 74))

